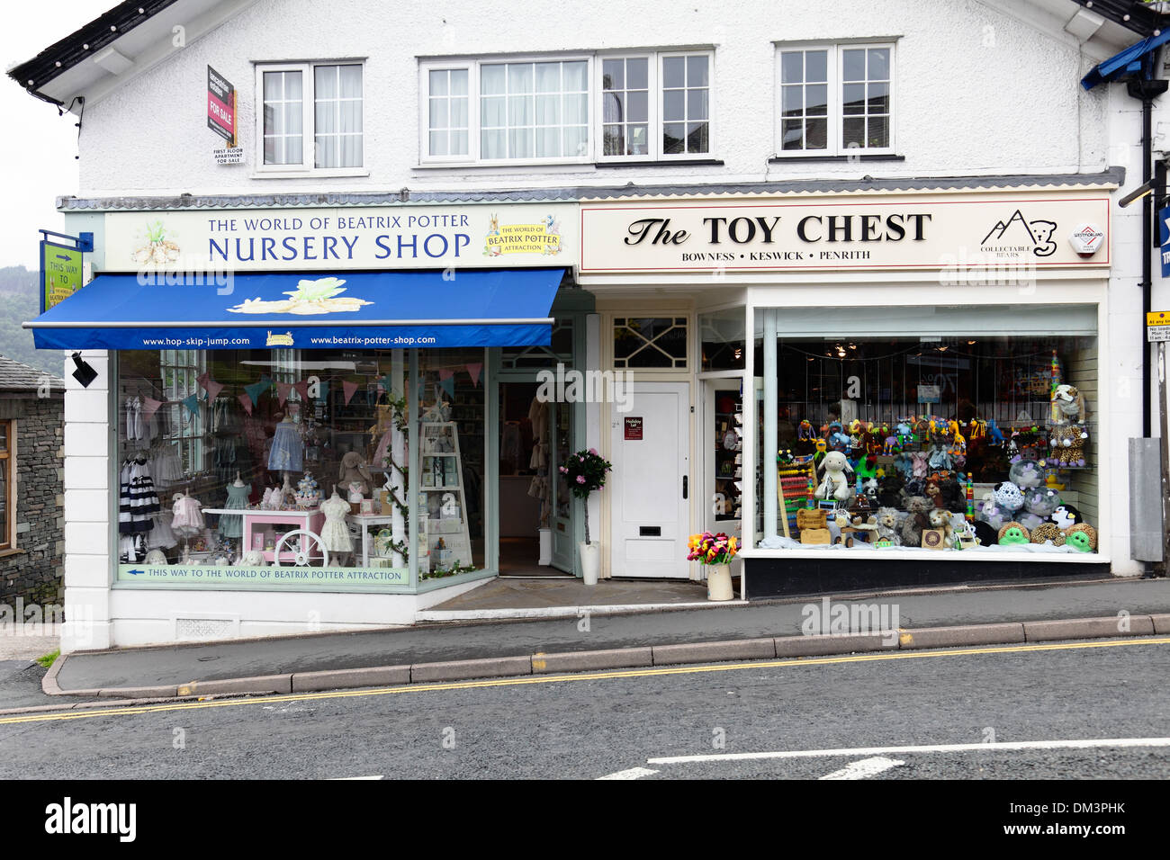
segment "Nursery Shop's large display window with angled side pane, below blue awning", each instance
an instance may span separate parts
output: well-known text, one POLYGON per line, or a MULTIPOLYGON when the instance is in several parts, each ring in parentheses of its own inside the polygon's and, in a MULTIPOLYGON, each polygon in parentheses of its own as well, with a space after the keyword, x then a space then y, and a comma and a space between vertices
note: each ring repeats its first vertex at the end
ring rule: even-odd
POLYGON ((117 578, 394 591, 412 566, 482 566, 483 351, 420 351, 413 424, 410 367, 405 350, 118 353, 117 578))

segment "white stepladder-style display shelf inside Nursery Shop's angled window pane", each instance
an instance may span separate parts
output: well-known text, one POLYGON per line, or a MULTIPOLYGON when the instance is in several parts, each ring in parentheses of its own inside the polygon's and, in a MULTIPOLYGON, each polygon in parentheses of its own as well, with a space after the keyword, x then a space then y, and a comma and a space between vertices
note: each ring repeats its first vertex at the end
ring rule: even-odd
POLYGON ((419 476, 419 572, 472 570, 472 537, 459 429, 454 421, 421 425, 419 476))

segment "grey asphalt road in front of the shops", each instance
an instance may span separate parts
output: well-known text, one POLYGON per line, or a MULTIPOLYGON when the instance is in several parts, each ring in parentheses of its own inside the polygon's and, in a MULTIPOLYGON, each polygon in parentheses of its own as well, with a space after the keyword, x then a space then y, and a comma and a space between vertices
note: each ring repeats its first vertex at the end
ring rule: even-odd
POLYGON ((1165 779, 1170 745, 996 744, 1164 739, 1168 674, 1163 637, 7 717, 0 778, 810 779, 880 758, 863 778, 1165 779), (937 744, 980 745, 652 761, 937 744))

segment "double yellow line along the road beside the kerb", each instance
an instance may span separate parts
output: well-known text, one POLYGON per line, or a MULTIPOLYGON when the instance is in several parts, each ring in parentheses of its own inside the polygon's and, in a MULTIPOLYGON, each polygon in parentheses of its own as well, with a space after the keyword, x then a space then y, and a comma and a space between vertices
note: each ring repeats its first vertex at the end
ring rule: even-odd
POLYGON ((948 648, 944 651, 899 651, 849 656, 794 658, 790 660, 753 660, 742 663, 713 663, 709 666, 679 666, 672 668, 614 669, 586 672, 572 675, 524 675, 489 681, 454 681, 449 683, 411 683, 400 687, 377 687, 363 690, 336 690, 326 693, 301 693, 278 696, 254 696, 249 699, 207 700, 193 702, 167 702, 123 708, 94 708, 87 710, 58 711, 53 714, 28 714, 0 717, 0 725, 18 723, 46 723, 64 720, 94 720, 111 716, 139 716, 167 711, 202 710, 206 708, 238 708, 241 706, 276 704, 280 702, 308 702, 328 699, 357 699, 360 696, 386 696, 395 693, 435 693, 442 690, 469 690, 487 687, 516 687, 532 683, 564 683, 566 681, 608 681, 622 677, 655 677, 661 675, 694 675, 703 672, 738 672, 742 669, 771 669, 805 666, 833 666, 839 663, 865 663, 885 660, 923 660, 932 658, 971 656, 976 654, 1020 654, 1041 651, 1075 651, 1081 648, 1119 648, 1134 645, 1170 645, 1170 637, 1143 637, 1140 639, 1108 640, 1100 642, 1053 642, 1045 645, 1010 645, 980 648, 948 648))

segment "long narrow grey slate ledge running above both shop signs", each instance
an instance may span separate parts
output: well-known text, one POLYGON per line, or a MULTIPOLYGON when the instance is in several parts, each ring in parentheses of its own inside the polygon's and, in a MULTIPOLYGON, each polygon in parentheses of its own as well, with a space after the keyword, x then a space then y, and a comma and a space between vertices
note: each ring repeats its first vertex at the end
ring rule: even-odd
POLYGON ((1087 185, 1120 186, 1124 167, 1108 167, 1097 173, 1052 173, 1040 176, 911 177, 906 179, 790 179, 772 183, 707 183, 619 186, 579 185, 560 188, 515 188, 474 191, 374 191, 300 194, 207 194, 195 197, 105 197, 57 198, 63 212, 117 212, 119 209, 239 209, 291 208, 316 206, 391 206, 395 204, 474 202, 577 202, 645 197, 710 197, 731 194, 841 193, 858 191, 978 191, 992 188, 1057 188, 1087 185))

